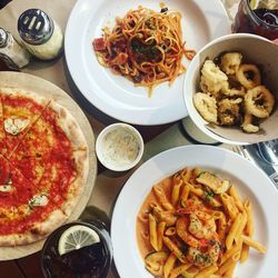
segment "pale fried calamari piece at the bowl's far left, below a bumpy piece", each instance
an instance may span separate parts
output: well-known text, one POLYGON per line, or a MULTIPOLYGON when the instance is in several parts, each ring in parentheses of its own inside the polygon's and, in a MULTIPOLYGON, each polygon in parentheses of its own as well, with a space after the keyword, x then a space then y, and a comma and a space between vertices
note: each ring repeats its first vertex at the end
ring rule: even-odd
POLYGON ((193 105, 201 117, 208 122, 217 122, 217 105, 216 99, 205 92, 193 95, 193 105))

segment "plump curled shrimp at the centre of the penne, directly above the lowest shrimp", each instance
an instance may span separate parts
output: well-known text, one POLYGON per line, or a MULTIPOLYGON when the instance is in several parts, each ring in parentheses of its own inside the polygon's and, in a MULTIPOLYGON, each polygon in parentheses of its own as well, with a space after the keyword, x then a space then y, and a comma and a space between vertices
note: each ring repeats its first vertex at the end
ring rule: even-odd
POLYGON ((209 239, 214 236, 216 231, 216 222, 210 215, 199 210, 191 212, 189 219, 190 222, 188 230, 192 236, 198 239, 209 239))

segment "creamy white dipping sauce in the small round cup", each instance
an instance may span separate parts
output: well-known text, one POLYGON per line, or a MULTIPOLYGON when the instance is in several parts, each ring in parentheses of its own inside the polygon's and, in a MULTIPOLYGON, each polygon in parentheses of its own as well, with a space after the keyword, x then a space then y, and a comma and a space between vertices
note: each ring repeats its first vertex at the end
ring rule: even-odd
POLYGON ((109 131, 101 143, 103 160, 116 167, 132 163, 139 153, 139 148, 135 132, 125 127, 109 131))

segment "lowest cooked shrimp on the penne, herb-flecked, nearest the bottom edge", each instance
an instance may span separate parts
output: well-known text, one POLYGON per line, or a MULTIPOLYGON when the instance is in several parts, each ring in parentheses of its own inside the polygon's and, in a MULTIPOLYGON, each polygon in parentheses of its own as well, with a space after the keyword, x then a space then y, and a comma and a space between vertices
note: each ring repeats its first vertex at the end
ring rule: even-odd
POLYGON ((216 264, 221 252, 220 245, 215 239, 210 239, 206 250, 202 250, 189 247, 186 256, 187 260, 197 267, 205 268, 216 264))

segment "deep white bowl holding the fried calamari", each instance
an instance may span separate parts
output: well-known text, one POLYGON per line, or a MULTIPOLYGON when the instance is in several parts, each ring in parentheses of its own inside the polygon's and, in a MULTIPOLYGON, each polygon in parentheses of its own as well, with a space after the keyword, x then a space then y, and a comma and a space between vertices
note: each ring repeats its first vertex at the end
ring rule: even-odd
POLYGON ((269 40, 249 33, 232 33, 220 37, 205 46, 193 58, 183 83, 183 99, 189 117, 195 125, 212 139, 231 145, 248 145, 278 138, 278 109, 260 123, 257 133, 245 133, 239 127, 219 127, 209 125, 193 106, 192 96, 198 92, 200 69, 207 59, 214 60, 221 52, 238 51, 244 59, 262 68, 262 83, 276 95, 278 102, 278 47, 269 40))

